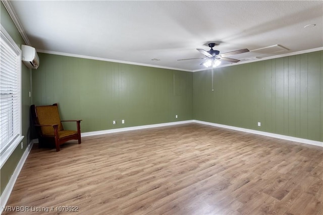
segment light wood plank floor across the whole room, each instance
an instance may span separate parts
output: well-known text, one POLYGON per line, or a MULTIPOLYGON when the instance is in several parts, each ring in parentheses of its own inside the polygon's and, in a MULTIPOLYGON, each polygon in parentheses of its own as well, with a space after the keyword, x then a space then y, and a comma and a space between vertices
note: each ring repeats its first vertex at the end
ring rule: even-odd
POLYGON ((321 147, 199 124, 83 137, 19 175, 7 206, 48 213, 3 214, 323 214, 322 172, 321 147))

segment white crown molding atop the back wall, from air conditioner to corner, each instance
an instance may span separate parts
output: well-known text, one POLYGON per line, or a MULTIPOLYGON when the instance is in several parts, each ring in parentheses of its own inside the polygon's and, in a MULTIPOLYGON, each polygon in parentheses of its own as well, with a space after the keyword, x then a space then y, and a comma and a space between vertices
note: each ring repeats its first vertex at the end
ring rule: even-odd
POLYGON ((114 62, 114 63, 121 63, 121 64, 131 64, 131 65, 137 65, 137 66, 144 66, 144 67, 154 67, 154 68, 160 68, 160 69, 193 72, 192 70, 185 70, 185 69, 180 69, 180 68, 164 67, 164 66, 157 66, 157 65, 151 65, 151 64, 141 64, 141 63, 135 63, 135 62, 129 62, 129 61, 119 61, 119 60, 114 60, 114 59, 106 59, 106 58, 98 58, 98 57, 91 57, 91 56, 85 56, 85 55, 77 55, 77 54, 73 54, 73 53, 65 53, 65 52, 59 52, 59 51, 50 51, 50 50, 43 50, 43 49, 36 49, 36 50, 37 50, 37 52, 49 53, 51 55, 61 55, 61 56, 68 56, 68 57, 74 57, 74 58, 85 58, 85 59, 91 59, 91 60, 97 60, 97 61, 107 61, 107 62, 114 62))

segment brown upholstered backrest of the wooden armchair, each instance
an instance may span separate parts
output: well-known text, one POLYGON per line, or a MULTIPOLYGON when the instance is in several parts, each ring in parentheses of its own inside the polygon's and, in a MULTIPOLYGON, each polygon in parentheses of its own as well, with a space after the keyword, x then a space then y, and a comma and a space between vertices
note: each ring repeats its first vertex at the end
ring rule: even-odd
MULTIPOLYGON (((59 109, 57 104, 48 106, 35 106, 37 123, 39 125, 59 125, 59 131, 64 130, 61 123, 59 109)), ((41 132, 43 135, 54 135, 54 130, 51 126, 42 126, 41 132)))

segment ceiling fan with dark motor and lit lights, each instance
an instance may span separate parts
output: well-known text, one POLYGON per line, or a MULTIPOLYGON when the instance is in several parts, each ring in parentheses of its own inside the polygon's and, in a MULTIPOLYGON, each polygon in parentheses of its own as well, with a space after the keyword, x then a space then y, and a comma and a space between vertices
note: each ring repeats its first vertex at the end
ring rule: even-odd
POLYGON ((204 65, 206 67, 209 67, 209 66, 216 67, 216 66, 220 65, 221 61, 237 63, 240 60, 233 59, 233 58, 227 58, 227 57, 249 51, 247 48, 244 48, 244 49, 240 49, 240 50, 235 50, 235 51, 229 51, 229 52, 226 52, 226 53, 222 53, 220 55, 220 51, 213 50, 213 47, 216 46, 216 45, 217 45, 216 43, 208 43, 208 47, 211 48, 209 51, 206 51, 206 50, 201 49, 201 48, 196 48, 196 50, 198 50, 203 55, 205 55, 206 58, 189 58, 189 59, 180 59, 178 61, 193 60, 193 59, 206 59, 200 65, 204 65))

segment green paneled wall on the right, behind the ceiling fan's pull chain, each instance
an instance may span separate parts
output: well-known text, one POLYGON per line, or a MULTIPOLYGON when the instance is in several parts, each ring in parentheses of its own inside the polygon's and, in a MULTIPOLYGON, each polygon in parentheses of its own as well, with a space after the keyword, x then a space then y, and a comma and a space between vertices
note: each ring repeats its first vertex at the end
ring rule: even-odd
POLYGON ((193 118, 323 141, 323 51, 195 72, 193 118), (261 127, 257 126, 261 122, 261 127))

